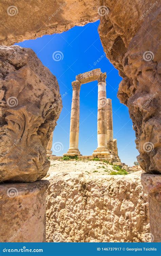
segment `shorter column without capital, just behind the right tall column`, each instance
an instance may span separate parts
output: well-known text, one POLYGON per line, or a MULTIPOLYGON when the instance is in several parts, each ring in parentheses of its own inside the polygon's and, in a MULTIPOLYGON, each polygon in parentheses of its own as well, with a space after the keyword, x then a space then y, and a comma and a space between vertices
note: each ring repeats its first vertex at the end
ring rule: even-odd
POLYGON ((113 145, 113 120, 112 120, 112 100, 107 99, 107 148, 112 151, 113 145))

